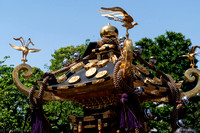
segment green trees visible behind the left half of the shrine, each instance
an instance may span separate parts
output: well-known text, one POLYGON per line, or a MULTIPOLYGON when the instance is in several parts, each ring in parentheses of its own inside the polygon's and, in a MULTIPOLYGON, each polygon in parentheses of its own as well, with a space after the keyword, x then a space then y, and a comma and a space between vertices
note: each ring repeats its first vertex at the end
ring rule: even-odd
MULTIPOLYGON (((55 59, 51 60, 52 65, 50 68, 52 71, 62 67, 61 64, 64 58, 70 58, 71 60, 73 53, 79 52, 83 54, 87 48, 88 41, 86 40, 85 44, 76 47, 68 46, 55 51, 55 54, 52 55, 55 59)), ((23 127, 25 131, 30 131, 30 121, 25 123, 25 117, 30 117, 28 112, 30 108, 29 99, 27 95, 21 93, 14 85, 12 80, 13 65, 4 65, 8 58, 9 56, 6 56, 4 61, 0 61, 0 132, 8 132, 10 130, 21 132, 23 127)), ((20 81, 28 88, 38 86, 36 80, 42 79, 44 74, 36 67, 33 67, 33 73, 29 79, 24 79, 20 75, 20 81)), ((83 115, 82 106, 69 101, 46 102, 43 108, 51 124, 52 131, 55 132, 69 132, 69 115, 83 115)))

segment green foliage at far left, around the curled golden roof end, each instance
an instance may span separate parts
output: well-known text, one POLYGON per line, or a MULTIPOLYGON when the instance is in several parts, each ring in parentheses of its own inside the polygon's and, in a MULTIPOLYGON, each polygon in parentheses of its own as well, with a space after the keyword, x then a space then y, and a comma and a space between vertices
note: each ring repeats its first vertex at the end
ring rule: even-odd
MULTIPOLYGON (((7 58, 9 57, 6 56, 4 61, 0 62, 0 129, 22 131, 25 114, 29 108, 29 100, 13 84, 13 66, 3 65, 7 58)), ((33 68, 33 72, 35 74, 30 79, 20 76, 20 80, 28 87, 36 85, 35 79, 41 78, 43 74, 38 68, 33 68)), ((30 128, 27 125, 25 129, 30 128)))

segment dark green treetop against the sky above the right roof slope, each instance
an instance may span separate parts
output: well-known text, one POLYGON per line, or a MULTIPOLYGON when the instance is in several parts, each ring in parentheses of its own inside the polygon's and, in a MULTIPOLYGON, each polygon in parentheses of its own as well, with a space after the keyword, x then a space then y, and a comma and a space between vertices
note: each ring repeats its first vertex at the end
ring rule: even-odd
POLYGON ((183 72, 190 67, 190 62, 187 58, 180 57, 190 51, 191 41, 185 39, 181 33, 166 32, 165 35, 160 35, 151 40, 143 38, 136 42, 136 45, 141 45, 143 48, 142 57, 149 60, 150 56, 155 56, 157 59, 156 67, 163 72, 171 75, 175 80, 183 80, 183 72))

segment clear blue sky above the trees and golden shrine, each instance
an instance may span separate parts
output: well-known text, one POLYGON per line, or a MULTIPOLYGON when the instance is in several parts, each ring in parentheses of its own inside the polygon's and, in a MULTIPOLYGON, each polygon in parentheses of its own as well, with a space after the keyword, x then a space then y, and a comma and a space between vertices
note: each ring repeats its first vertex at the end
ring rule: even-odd
POLYGON ((129 31, 133 42, 175 31, 191 39, 193 45, 200 45, 199 0, 0 0, 0 60, 9 55, 6 64, 22 63, 22 53, 9 46, 21 45, 13 37, 31 38, 35 46, 30 47, 42 49, 29 53, 27 63, 46 71, 44 64, 50 65, 55 50, 83 44, 86 39, 101 39, 100 29, 107 23, 118 28, 119 36, 125 36, 121 23, 98 13, 100 7, 115 6, 139 23, 129 31))

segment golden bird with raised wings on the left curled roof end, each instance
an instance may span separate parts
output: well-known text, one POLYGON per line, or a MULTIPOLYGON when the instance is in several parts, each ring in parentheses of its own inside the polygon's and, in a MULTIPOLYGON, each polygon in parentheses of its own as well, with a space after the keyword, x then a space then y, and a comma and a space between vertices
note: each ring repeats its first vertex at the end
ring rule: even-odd
POLYGON ((12 45, 10 44, 10 46, 16 50, 19 50, 19 51, 22 51, 22 61, 23 63, 27 62, 28 60, 26 59, 27 55, 29 52, 39 52, 41 49, 32 49, 32 48, 29 48, 29 44, 33 44, 33 42, 31 41, 31 39, 29 38, 27 42, 24 41, 23 37, 20 37, 20 38, 13 38, 14 40, 16 41, 20 41, 21 44, 22 44, 22 47, 18 47, 18 46, 15 46, 15 45, 12 45))

